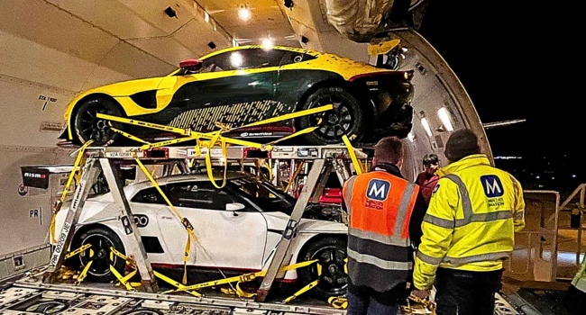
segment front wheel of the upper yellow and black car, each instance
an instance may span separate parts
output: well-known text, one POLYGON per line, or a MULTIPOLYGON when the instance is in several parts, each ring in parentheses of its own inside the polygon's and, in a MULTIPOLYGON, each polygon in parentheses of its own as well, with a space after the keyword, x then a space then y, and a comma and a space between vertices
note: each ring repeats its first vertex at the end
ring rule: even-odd
POLYGON ((81 144, 93 139, 96 145, 112 145, 120 136, 111 129, 124 130, 124 124, 114 121, 106 121, 96 117, 97 113, 105 113, 113 116, 123 116, 118 103, 107 98, 93 98, 79 105, 73 120, 73 131, 81 144))

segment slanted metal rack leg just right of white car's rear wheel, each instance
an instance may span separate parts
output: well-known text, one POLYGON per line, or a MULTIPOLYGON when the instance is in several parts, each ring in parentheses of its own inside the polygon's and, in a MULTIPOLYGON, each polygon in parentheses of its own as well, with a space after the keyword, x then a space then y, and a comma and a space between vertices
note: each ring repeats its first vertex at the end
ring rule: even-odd
POLYGON ((102 166, 102 172, 104 173, 105 180, 110 187, 110 192, 114 198, 114 202, 121 212, 120 220, 124 225, 126 235, 129 237, 130 248, 126 248, 127 251, 134 254, 134 261, 136 262, 136 268, 141 274, 141 288, 149 293, 156 293, 159 291, 159 285, 152 272, 151 263, 149 257, 147 257, 146 250, 142 245, 141 232, 136 228, 136 224, 133 220, 133 211, 130 209, 126 195, 124 194, 124 183, 122 182, 122 175, 119 174, 118 167, 114 164, 113 160, 107 158, 99 159, 100 166, 102 166), (131 235, 132 234, 132 235, 131 235))

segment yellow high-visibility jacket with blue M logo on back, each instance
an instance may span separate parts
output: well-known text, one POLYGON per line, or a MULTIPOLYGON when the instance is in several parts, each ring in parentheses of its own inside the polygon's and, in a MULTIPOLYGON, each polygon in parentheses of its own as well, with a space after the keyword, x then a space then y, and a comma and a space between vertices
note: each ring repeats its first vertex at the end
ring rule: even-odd
POLYGON ((525 227, 521 185, 490 166, 485 155, 472 155, 445 166, 422 224, 414 283, 434 284, 438 267, 492 271, 502 268, 525 227))

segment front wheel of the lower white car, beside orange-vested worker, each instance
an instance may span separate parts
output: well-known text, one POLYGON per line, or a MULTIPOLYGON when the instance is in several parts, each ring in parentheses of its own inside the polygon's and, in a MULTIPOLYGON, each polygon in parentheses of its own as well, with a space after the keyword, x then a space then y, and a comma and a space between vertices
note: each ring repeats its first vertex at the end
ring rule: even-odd
POLYGON ((341 296, 346 293, 348 287, 348 275, 344 272, 344 259, 348 243, 341 237, 328 237, 318 239, 299 253, 298 263, 302 261, 319 259, 322 266, 322 275, 318 276, 316 264, 298 269, 298 279, 302 285, 310 284, 319 277, 319 284, 309 293, 316 299, 327 301, 333 296, 341 296))

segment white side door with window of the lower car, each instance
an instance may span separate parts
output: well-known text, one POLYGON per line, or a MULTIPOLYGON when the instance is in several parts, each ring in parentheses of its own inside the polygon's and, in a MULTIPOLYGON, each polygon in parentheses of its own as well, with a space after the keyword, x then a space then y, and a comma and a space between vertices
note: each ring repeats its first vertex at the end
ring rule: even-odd
MULTIPOLYGON (((267 223, 259 211, 240 203, 225 189, 209 181, 167 184, 166 193, 181 216, 194 227, 188 265, 260 270, 267 223), (228 206, 230 205, 230 206, 228 206), (226 208, 242 208, 229 211, 226 208)), ((160 233, 172 257, 183 264, 187 232, 168 206, 158 212, 160 233)))

